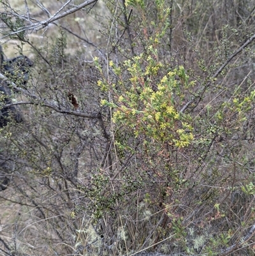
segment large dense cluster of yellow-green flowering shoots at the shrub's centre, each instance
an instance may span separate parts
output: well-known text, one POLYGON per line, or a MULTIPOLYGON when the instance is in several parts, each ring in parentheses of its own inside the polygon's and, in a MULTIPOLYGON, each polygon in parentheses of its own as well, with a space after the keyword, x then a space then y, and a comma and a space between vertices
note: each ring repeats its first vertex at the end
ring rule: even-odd
POLYGON ((189 118, 177 111, 175 97, 181 99, 184 89, 189 86, 189 77, 184 67, 179 66, 168 70, 158 80, 166 66, 158 61, 157 51, 152 45, 148 47, 148 52, 150 55, 146 58, 140 54, 124 63, 129 73, 128 82, 122 80, 121 68, 109 62, 119 80, 117 86, 106 80, 98 81, 102 90, 112 88, 113 93, 113 103, 106 100, 101 103, 115 109, 113 122, 126 126, 129 131, 131 129, 135 137, 142 135, 176 147, 186 147, 193 140, 193 128, 187 123, 189 118), (120 88, 119 91, 116 87, 120 88))

